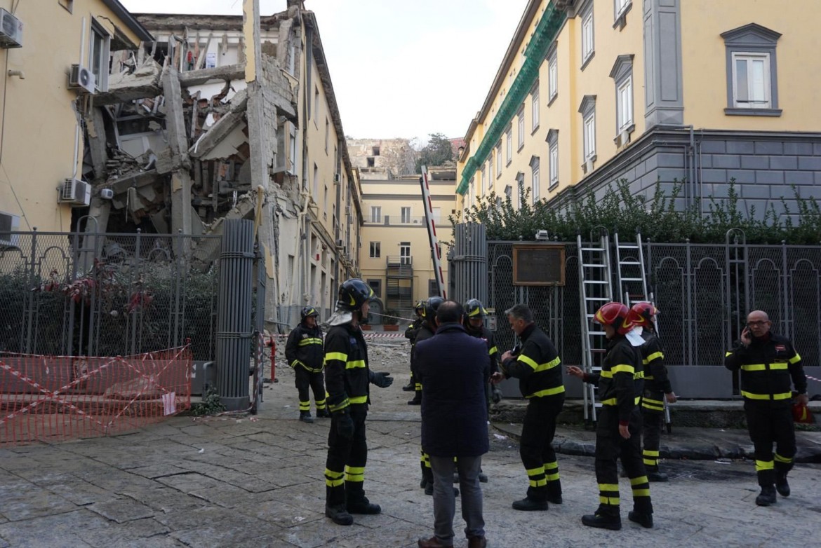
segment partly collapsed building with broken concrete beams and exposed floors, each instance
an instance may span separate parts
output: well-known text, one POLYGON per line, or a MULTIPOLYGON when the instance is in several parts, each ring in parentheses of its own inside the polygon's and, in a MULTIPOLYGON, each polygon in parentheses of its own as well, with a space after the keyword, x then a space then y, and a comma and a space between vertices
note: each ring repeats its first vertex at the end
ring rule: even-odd
MULTIPOLYGON (((139 47, 112 47, 106 85, 76 95, 76 178, 90 203, 71 217, 99 232, 193 235, 255 220, 274 328, 306 304, 327 317, 338 283, 359 272, 361 191, 314 13, 289 0, 251 15, 133 14, 139 47)), ((55 229, 68 230, 62 217, 55 229)), ((190 249, 195 262, 217 258, 209 245, 190 249)))

